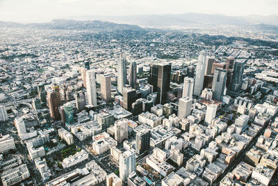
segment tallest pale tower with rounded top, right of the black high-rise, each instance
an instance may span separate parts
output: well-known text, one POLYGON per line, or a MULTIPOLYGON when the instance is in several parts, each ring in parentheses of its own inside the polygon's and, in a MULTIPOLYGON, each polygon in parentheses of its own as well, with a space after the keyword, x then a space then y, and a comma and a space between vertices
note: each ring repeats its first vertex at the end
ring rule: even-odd
POLYGON ((199 54, 199 59, 197 63, 193 95, 200 95, 202 93, 205 70, 206 70, 206 53, 202 51, 199 54))

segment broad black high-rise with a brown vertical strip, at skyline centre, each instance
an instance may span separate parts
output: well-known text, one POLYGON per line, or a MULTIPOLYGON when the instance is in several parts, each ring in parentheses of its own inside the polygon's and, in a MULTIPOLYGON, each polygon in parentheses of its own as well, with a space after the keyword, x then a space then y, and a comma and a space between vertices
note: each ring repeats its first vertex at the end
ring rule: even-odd
POLYGON ((149 84, 154 86, 154 92, 157 92, 156 102, 164 104, 167 100, 167 91, 170 90, 172 63, 151 64, 149 84))

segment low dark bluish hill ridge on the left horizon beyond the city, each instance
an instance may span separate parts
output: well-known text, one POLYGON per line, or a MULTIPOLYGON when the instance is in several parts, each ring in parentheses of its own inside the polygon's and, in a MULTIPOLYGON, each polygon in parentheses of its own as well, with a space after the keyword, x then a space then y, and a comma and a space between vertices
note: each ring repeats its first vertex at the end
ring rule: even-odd
POLYGON ((140 26, 117 24, 103 21, 53 20, 47 23, 20 24, 15 22, 0 22, 0 28, 38 28, 38 29, 97 29, 97 30, 143 30, 140 26))

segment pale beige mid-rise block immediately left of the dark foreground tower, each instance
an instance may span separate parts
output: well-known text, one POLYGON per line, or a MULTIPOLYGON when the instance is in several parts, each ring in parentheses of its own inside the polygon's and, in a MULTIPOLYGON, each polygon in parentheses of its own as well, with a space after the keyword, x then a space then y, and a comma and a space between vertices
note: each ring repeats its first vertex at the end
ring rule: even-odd
POLYGON ((114 126, 115 126, 115 140, 117 141, 117 143, 122 143, 124 139, 128 139, 129 121, 126 118, 115 121, 114 126))

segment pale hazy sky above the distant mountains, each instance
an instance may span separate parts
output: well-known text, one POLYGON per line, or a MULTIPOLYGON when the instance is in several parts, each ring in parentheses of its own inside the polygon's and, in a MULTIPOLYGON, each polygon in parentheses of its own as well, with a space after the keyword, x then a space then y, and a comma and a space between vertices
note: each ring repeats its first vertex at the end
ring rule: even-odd
POLYGON ((13 22, 167 13, 272 15, 278 13, 278 0, 0 0, 0 20, 13 22))

